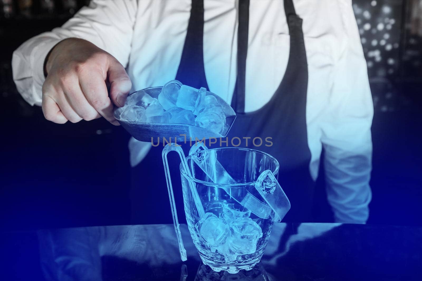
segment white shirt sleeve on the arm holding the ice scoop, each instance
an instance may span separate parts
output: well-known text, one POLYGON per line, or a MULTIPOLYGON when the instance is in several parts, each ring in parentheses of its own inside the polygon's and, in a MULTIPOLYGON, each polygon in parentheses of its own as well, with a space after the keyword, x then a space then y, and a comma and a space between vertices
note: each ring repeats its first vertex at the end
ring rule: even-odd
POLYGON ((92 0, 62 27, 24 42, 12 57, 13 79, 19 93, 29 104, 41 105, 44 60, 54 45, 69 37, 90 41, 126 67, 136 12, 137 0, 92 0))

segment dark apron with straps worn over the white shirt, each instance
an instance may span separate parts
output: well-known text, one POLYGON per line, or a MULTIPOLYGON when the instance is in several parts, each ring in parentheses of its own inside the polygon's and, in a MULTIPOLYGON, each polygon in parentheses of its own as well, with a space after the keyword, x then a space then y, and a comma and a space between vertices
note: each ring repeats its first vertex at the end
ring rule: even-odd
MULTIPOLYGON (((237 118, 228 134, 228 145, 230 146, 232 137, 240 139, 250 137, 249 148, 264 151, 275 157, 280 163, 280 185, 292 205, 283 221, 306 222, 311 219, 315 184, 309 172, 311 153, 306 128, 308 65, 302 19, 296 15, 292 0, 284 1, 284 9, 290 35, 286 73, 267 104, 254 112, 244 113, 249 0, 239 1, 238 75, 232 100, 237 118), (254 147, 252 140, 257 137, 262 139, 262 145, 254 147), (266 138, 271 138, 272 146, 265 146, 269 144, 265 141, 266 138)), ((192 1, 186 40, 175 79, 195 88, 209 89, 203 60, 203 15, 203 1, 192 1)), ((257 145, 260 143, 258 140, 257 145)), ((235 145, 237 143, 235 142, 235 145)), ((241 147, 246 147, 245 144, 243 141, 241 147)), ((189 147, 182 148, 187 155, 189 147)), ((133 224, 173 222, 161 151, 161 145, 152 147, 146 158, 132 169, 130 199, 133 224)), ((176 153, 169 154, 169 163, 179 221, 185 222, 179 172, 180 160, 176 153)))

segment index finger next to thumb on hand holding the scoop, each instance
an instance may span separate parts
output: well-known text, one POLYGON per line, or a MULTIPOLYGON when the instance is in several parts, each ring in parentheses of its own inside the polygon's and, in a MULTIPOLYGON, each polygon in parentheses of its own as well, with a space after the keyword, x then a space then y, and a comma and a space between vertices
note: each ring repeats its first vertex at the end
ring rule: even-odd
POLYGON ((113 115, 113 103, 108 97, 103 76, 100 73, 92 73, 85 78, 80 78, 79 83, 89 104, 108 122, 119 125, 113 115))

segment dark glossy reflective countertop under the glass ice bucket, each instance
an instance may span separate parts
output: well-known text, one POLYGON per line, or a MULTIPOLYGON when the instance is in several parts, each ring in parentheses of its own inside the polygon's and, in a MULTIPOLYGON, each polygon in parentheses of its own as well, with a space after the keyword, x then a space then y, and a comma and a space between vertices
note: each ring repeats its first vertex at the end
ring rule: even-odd
MULTIPOLYGON (((238 274, 203 265, 186 225, 0 232, 3 280, 422 280, 422 227, 278 223, 259 264, 238 274)), ((1 279, 1 278, 0 278, 1 279)))

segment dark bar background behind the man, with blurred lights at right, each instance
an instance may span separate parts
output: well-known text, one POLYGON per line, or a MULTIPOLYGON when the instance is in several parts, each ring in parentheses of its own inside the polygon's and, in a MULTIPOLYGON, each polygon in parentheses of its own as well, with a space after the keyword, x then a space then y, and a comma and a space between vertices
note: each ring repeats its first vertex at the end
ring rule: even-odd
MULTIPOLYGON (((103 119, 49 122, 40 107, 24 102, 12 79, 12 52, 87 3, 0 0, 0 224, 5 229, 131 223, 129 134, 103 119)), ((372 224, 422 225, 420 7, 421 0, 353 1, 375 108, 372 224)), ((317 222, 333 221, 325 196, 319 177, 317 222)))

